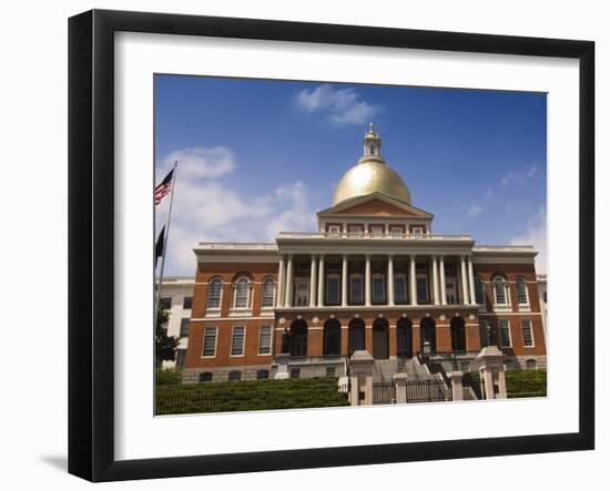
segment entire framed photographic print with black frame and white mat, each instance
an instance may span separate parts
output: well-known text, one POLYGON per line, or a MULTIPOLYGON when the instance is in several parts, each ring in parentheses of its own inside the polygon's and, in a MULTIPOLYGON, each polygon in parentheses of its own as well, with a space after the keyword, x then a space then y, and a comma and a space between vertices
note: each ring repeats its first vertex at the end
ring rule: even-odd
POLYGON ((593 448, 592 42, 69 27, 71 473, 593 448))

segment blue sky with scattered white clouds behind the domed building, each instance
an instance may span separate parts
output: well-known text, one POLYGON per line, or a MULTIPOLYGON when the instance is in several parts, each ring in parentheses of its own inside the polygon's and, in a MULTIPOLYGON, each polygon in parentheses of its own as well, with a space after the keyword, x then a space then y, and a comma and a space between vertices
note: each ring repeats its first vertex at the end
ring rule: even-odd
POLYGON ((532 244, 546 270, 546 94, 156 75, 154 98, 156 181, 179 160, 165 274, 200 241, 315 229, 369 121, 435 233, 532 244))

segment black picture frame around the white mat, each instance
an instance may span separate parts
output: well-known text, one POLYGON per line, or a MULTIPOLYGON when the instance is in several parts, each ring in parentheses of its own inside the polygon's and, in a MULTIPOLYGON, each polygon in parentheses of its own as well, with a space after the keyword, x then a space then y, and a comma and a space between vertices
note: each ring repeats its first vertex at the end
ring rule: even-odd
POLYGON ((322 468, 594 448, 594 43, 92 10, 69 20, 69 472, 91 481, 322 468), (114 457, 114 33, 409 48, 579 60, 579 430, 288 451, 114 457))

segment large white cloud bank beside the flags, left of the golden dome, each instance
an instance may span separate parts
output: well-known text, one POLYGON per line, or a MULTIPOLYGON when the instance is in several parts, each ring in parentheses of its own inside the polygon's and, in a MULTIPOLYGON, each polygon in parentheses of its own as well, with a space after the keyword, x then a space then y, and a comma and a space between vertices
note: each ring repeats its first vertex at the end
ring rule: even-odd
MULTIPOLYGON (((157 174, 164 175, 175 155, 192 156, 187 165, 179 161, 166 275, 194 274, 193 247, 199 242, 274 242, 282 231, 315 229, 314 198, 302 182, 261 195, 241 193, 235 181, 224 178, 236 166, 230 149, 192 151, 172 152, 162 161, 157 174)), ((170 196, 156 206, 156 231, 165 224, 169 206, 170 196)))

